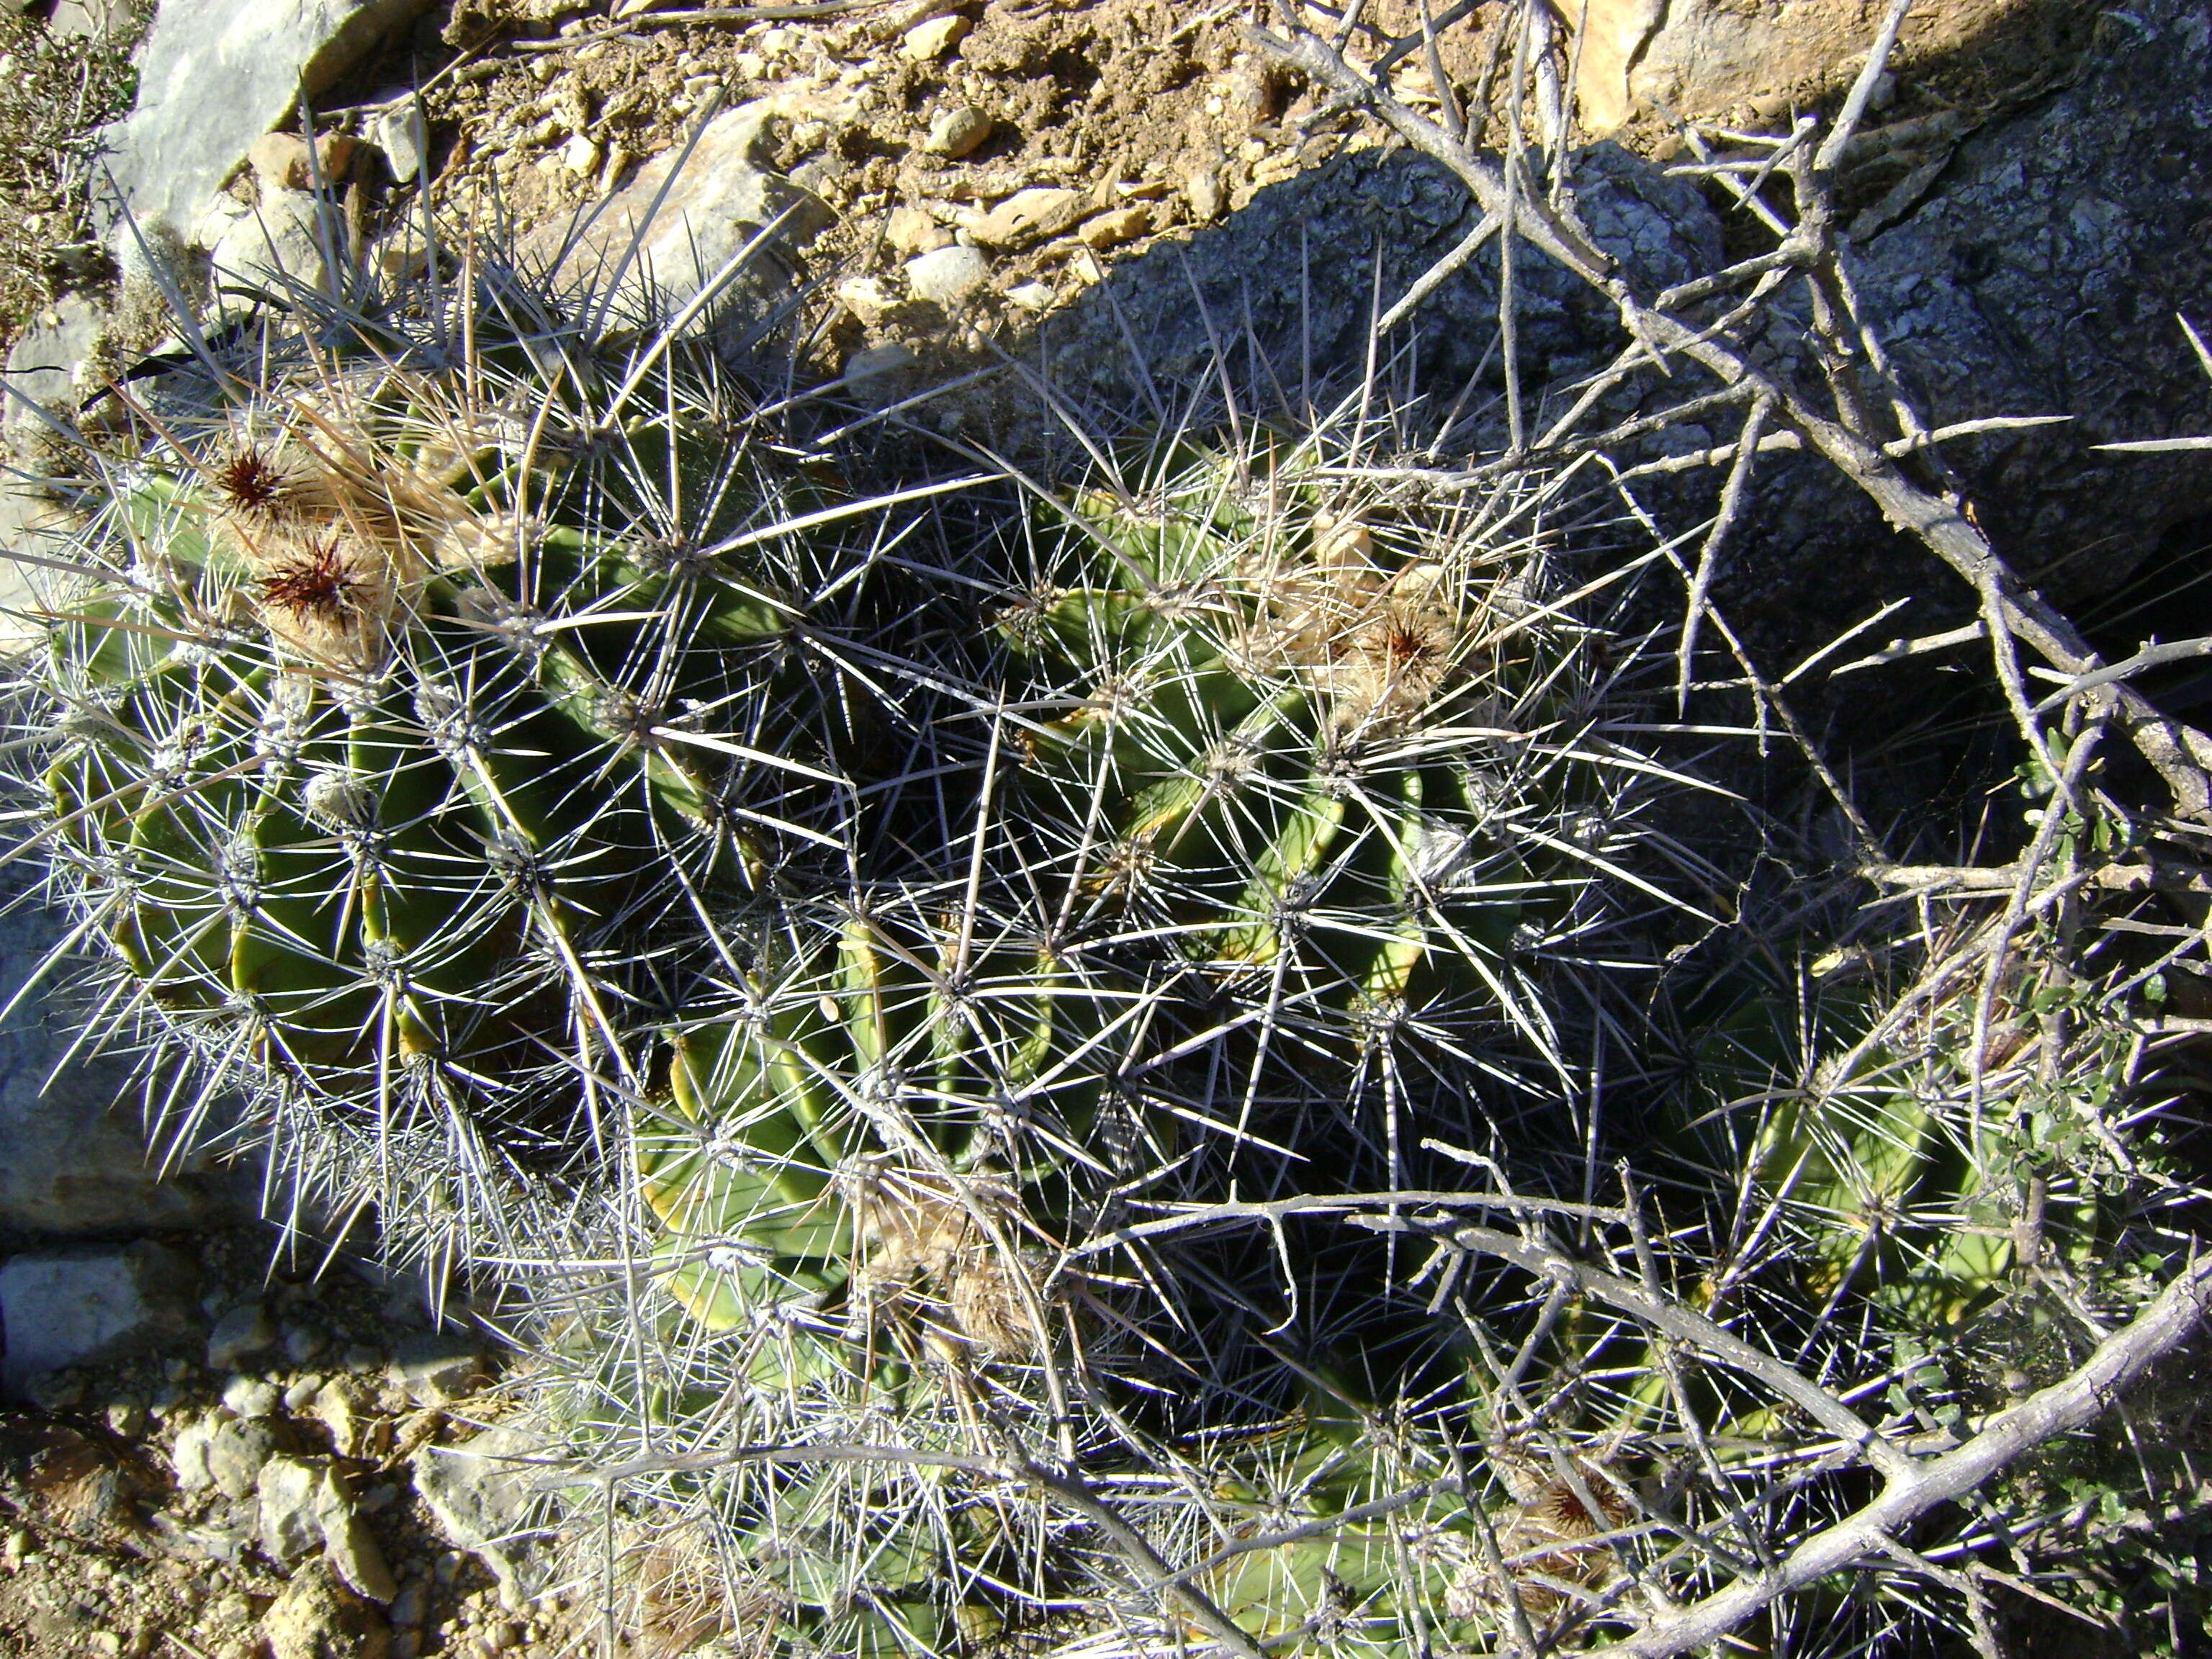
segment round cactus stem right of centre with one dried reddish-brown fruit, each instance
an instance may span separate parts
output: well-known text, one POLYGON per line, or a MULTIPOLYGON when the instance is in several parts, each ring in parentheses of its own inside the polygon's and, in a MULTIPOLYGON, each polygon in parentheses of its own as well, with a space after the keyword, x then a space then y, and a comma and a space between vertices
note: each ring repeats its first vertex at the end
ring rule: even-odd
POLYGON ((1383 1186, 1431 1102, 1427 1135, 1555 1137, 1562 1009, 1604 998, 1566 982, 1628 905, 1690 907, 1637 823, 1681 781, 1608 730, 1635 653, 1601 644, 1619 595, 1566 599, 1559 482, 1374 473, 1329 422, 1161 445, 1040 509, 998 628, 1035 710, 1009 816, 1068 949, 1175 1004, 1159 1051, 1239 1033, 1201 1055, 1219 1121, 1389 1095, 1354 1137, 1380 1166, 1345 1170, 1383 1186))

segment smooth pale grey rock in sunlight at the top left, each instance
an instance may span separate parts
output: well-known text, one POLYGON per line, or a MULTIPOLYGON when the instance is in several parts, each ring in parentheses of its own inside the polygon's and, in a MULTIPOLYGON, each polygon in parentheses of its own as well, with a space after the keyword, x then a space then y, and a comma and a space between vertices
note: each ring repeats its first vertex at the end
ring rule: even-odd
POLYGON ((108 168, 139 221, 188 232, 248 146, 338 80, 427 0, 161 0, 137 108, 108 128, 108 168))

